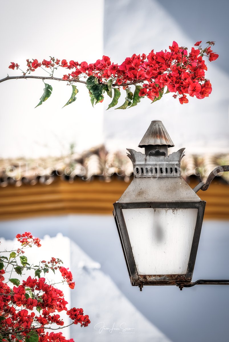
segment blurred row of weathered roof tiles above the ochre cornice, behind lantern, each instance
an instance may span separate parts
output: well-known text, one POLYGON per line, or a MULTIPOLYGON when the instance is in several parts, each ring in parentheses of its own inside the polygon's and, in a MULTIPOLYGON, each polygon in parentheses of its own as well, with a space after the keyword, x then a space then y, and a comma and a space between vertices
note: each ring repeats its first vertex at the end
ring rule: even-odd
MULTIPOLYGON (((229 154, 224 155, 186 155, 181 161, 181 175, 187 180, 190 176, 198 176, 200 172, 203 181, 218 165, 228 165, 229 154)), ((124 152, 107 152, 103 145, 93 147, 81 154, 71 154, 59 158, 0 159, 0 186, 8 184, 21 186, 35 185, 37 182, 51 184, 56 177, 69 182, 77 178, 90 181, 100 177, 111 181, 114 175, 128 182, 133 174, 133 166, 124 152)), ((229 183, 229 173, 221 177, 229 183)))

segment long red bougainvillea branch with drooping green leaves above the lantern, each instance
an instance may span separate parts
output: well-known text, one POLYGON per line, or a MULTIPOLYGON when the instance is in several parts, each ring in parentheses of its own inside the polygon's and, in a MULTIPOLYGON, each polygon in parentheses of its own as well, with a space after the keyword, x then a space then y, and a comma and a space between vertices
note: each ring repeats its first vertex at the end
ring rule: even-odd
MULTIPOLYGON (((72 94, 67 103, 76 100, 78 89, 75 83, 84 83, 89 91, 92 106, 103 102, 104 94, 112 98, 108 108, 118 104, 120 90, 126 92, 125 102, 115 109, 126 109, 136 106, 142 97, 148 97, 152 103, 162 98, 164 94, 173 93, 174 98, 179 98, 180 104, 188 103, 188 96, 203 99, 212 92, 210 81, 205 78, 207 66, 204 57, 210 62, 218 58, 218 54, 212 51, 214 41, 206 42, 202 48, 201 41, 194 44, 188 53, 188 48, 179 47, 177 42, 169 46, 170 51, 154 52, 148 55, 136 55, 127 57, 118 65, 111 63, 110 57, 103 56, 101 60, 88 64, 87 62, 67 62, 50 57, 49 60, 39 62, 37 59, 26 61, 26 71, 17 63, 11 62, 10 69, 21 70, 22 76, 7 76, 0 82, 10 79, 36 78, 44 80, 66 81, 72 85, 72 94), (195 48, 197 47, 197 48, 195 48), (64 68, 67 72, 62 78, 54 77, 58 68, 64 68), (33 76, 36 69, 43 69, 49 76, 33 76), (69 72, 68 72, 69 71, 69 72), (132 89, 131 86, 135 86, 132 89)), ((52 86, 44 82, 44 92, 37 106, 46 101, 52 93, 52 86)))

